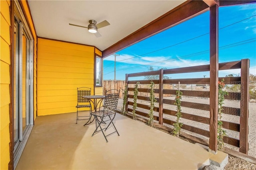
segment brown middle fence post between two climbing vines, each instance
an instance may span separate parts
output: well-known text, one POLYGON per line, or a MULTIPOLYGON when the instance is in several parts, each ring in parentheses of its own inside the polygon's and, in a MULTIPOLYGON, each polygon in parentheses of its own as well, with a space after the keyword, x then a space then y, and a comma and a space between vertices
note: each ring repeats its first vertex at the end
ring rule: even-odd
POLYGON ((163 125, 163 101, 164 101, 164 70, 159 70, 159 124, 163 125))

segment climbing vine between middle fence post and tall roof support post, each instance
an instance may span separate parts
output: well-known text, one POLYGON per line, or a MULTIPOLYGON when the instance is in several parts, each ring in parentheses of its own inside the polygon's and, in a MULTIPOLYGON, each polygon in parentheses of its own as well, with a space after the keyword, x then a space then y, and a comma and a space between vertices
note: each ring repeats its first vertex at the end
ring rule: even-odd
POLYGON ((176 137, 179 137, 180 129, 183 125, 182 123, 180 123, 180 118, 182 117, 181 101, 180 101, 181 97, 182 97, 182 92, 180 90, 177 90, 176 91, 175 102, 174 102, 174 105, 176 105, 176 110, 177 110, 177 113, 176 113, 177 119, 176 119, 176 122, 173 124, 174 129, 172 131, 172 135, 176 136, 176 137))

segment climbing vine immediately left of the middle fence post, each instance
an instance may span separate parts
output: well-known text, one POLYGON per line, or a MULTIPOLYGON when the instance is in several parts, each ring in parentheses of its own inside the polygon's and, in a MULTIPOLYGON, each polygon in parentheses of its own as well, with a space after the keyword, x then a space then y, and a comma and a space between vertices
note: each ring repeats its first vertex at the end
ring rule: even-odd
POLYGON ((156 98, 155 98, 155 92, 154 92, 154 82, 151 81, 150 82, 150 94, 149 94, 149 99, 150 99, 150 110, 149 110, 149 113, 148 113, 148 117, 149 117, 149 120, 148 120, 148 125, 150 127, 153 127, 154 125, 154 107, 155 107, 155 102, 156 102, 156 98))

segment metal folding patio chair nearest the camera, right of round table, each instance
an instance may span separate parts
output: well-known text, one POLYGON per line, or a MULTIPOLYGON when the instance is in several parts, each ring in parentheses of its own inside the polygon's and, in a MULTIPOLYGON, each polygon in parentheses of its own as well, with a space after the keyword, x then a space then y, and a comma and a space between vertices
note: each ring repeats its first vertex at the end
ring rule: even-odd
POLYGON ((106 91, 106 95, 105 95, 105 98, 104 98, 104 105, 102 106, 103 110, 91 113, 91 115, 93 115, 95 120, 96 120, 96 123, 95 123, 96 124, 96 129, 94 130, 92 136, 96 132, 101 131, 102 134, 104 135, 105 139, 106 139, 106 142, 108 142, 106 137, 115 133, 115 132, 118 134, 118 136, 120 136, 118 131, 116 130, 116 127, 115 127, 114 123, 113 123, 113 120, 116 116, 116 107, 117 107, 117 103, 118 103, 119 93, 120 93, 120 90, 118 91, 116 89, 106 91), (107 120, 105 120, 105 119, 107 119, 107 120), (107 125, 108 121, 110 121, 110 122, 107 125), (102 128, 102 126, 101 126, 102 123, 107 127, 102 128), (113 128, 114 128, 115 131, 108 134, 108 135, 105 135, 103 130, 106 131, 108 129, 108 127, 110 126, 110 124, 113 125, 113 128), (98 128, 100 128, 100 130, 98 130, 98 128))

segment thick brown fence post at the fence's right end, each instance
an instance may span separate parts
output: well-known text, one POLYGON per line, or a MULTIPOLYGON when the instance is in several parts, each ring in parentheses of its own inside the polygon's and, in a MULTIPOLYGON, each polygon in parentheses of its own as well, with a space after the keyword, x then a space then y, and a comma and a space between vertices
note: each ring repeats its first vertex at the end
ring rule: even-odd
POLYGON ((241 60, 241 101, 240 101, 240 148, 248 154, 248 117, 249 117, 249 59, 241 60))

